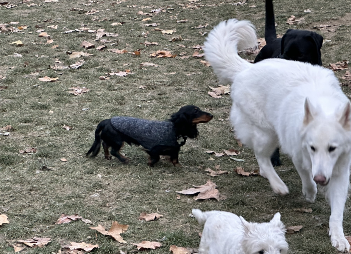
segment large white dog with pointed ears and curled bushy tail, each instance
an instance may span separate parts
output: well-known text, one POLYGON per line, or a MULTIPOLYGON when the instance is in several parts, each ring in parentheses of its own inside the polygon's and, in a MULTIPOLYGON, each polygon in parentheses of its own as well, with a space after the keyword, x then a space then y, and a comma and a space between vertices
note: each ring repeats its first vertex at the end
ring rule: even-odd
MULTIPOLYGON (((230 121, 236 137, 253 148, 260 174, 275 193, 289 193, 270 160, 279 145, 292 158, 307 201, 316 198, 316 182, 323 185, 331 206, 332 245, 348 252, 343 211, 351 161, 350 101, 329 69, 285 59, 250 64, 240 58, 242 22, 248 21, 219 23, 205 42, 205 57, 214 72, 232 83, 230 121)), ((252 26, 246 30, 246 36, 256 36, 252 26)))

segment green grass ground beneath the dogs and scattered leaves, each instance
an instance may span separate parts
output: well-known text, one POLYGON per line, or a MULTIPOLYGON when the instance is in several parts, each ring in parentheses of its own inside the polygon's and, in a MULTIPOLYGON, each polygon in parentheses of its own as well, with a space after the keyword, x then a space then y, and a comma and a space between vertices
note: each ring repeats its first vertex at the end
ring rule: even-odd
MULTIPOLYGON (((232 5, 236 1, 209 0, 116 2, 119 1, 59 0, 58 3, 46 3, 32 0, 30 3, 41 6, 27 7, 11 1, 17 7, 0 7, 0 24, 18 21, 14 27, 28 26, 18 33, 0 33, 0 75, 6 76, 0 80, 0 85, 8 86, 0 91, 0 128, 11 125, 15 129, 9 136, 0 136, 0 214, 6 214, 10 221, 10 224, 0 226, 0 253, 13 253, 14 241, 31 237, 51 237, 52 242, 45 248, 27 248, 23 253, 58 253, 61 246, 80 241, 98 244, 100 248, 93 251, 97 254, 130 251, 135 249, 130 242, 143 240, 162 242, 161 248, 150 253, 169 253, 169 246, 173 244, 196 248, 200 241, 198 232, 202 228, 188 216, 192 208, 230 211, 255 222, 269 221, 279 211, 286 226, 303 225, 302 232, 287 235, 290 253, 337 253, 327 235, 329 206, 322 195, 317 196, 314 204, 304 200, 301 181, 289 158, 283 156, 283 166, 277 168, 290 190, 285 197, 273 194, 268 181, 262 177, 240 177, 233 172, 237 166, 246 171, 256 170, 257 161, 251 150, 238 147, 232 137, 227 121, 230 97, 225 95, 224 99, 214 99, 207 94, 208 85, 218 85, 216 76, 211 68, 200 63, 201 58, 192 57, 195 51, 192 47, 203 45, 206 38, 199 32, 209 32, 219 21, 229 18, 252 21, 258 36, 264 37, 264 1, 249 0, 243 6, 232 5), (253 5, 256 7, 250 7, 253 5), (71 11, 72 8, 84 11, 71 11), (93 8, 99 12, 85 15, 93 8), (165 12, 154 15, 151 21, 142 21, 147 16, 137 15, 138 11, 149 13, 157 8, 163 8, 165 12), (181 19, 188 21, 176 23, 181 19), (124 24, 112 26, 115 22, 124 24), (161 32, 152 31, 155 27, 142 26, 146 23, 160 23, 159 28, 176 29, 176 32, 163 36, 161 32), (206 28, 191 28, 206 23, 209 24, 206 28), (53 39, 52 44, 45 45, 46 39, 38 37, 36 25, 43 25, 53 39), (49 25, 58 25, 58 28, 48 28, 49 25), (118 37, 102 37, 111 41, 106 43, 107 49, 129 52, 140 49, 141 55, 116 54, 107 49, 86 50, 80 47, 83 40, 95 44, 95 47, 103 45, 95 41, 95 33, 62 33, 80 29, 82 25, 91 30, 104 28, 105 32, 118 33, 118 37), (147 38, 143 32, 149 32, 147 38), (183 41, 169 41, 179 35, 183 41), (10 44, 17 40, 24 45, 10 44), (145 46, 145 41, 158 42, 159 45, 145 46), (59 47, 52 49, 53 45, 59 47), (178 56, 151 58, 149 55, 157 50, 168 50, 178 56), (71 59, 67 51, 83 51, 93 56, 71 59), (190 57, 179 58, 183 52, 190 57), (13 57, 14 53, 22 57, 13 57), (57 60, 68 66, 81 59, 85 63, 78 69, 50 68, 57 60), (159 67, 141 67, 143 62, 152 62, 159 67), (127 77, 99 79, 106 76, 105 73, 125 69, 135 73, 127 77), (176 74, 165 75, 170 72, 176 74), (196 74, 187 75, 191 73, 196 74), (59 80, 38 80, 44 76, 59 77, 59 80), (69 94, 69 88, 76 86, 87 87, 90 91, 78 96, 69 94), (140 86, 145 86, 145 89, 140 86), (195 104, 211 112, 214 118, 209 123, 200 124, 199 137, 188 140, 182 147, 179 160, 183 167, 160 162, 150 168, 146 164, 146 153, 135 146, 122 149, 131 158, 129 165, 122 165, 115 158, 107 161, 102 153, 93 159, 85 157, 101 120, 115 115, 165 120, 186 104, 195 104), (68 132, 63 125, 73 129, 68 132), (19 154, 19 150, 27 147, 35 147, 38 151, 19 154), (235 162, 228 157, 217 158, 205 153, 206 150, 221 152, 230 148, 238 149, 241 154, 237 157, 245 161, 235 162), (67 161, 62 162, 61 158, 67 161), (175 191, 189 188, 189 184, 206 183, 209 177, 199 169, 200 165, 203 169, 220 165, 221 170, 230 171, 229 175, 211 179, 218 185, 220 193, 227 196, 226 200, 194 201, 192 196, 184 195, 176 199, 175 191), (42 166, 52 170, 39 171, 42 166), (92 196, 96 193, 99 196, 92 196), (293 210, 301 207, 311 207, 312 214, 293 210), (164 217, 151 222, 138 220, 144 211, 157 211, 164 217), (96 232, 89 229, 90 225, 81 221, 54 224, 62 213, 77 213, 91 220, 94 227, 101 224, 106 229, 113 221, 128 224, 128 230, 122 234, 127 243, 118 243, 99 233, 96 236, 96 232)), ((316 31, 331 40, 322 47, 324 66, 342 59, 350 60, 349 6, 350 0, 275 1, 277 33, 284 34, 288 28, 316 31), (312 12, 305 13, 305 9, 312 9, 312 12), (289 26, 285 22, 291 15, 305 20, 289 26), (335 32, 313 28, 327 23, 335 25, 335 32)), ((344 73, 338 71, 336 75, 342 77, 344 73)), ((343 87, 343 90, 350 96, 349 87, 343 87)), ((351 234, 350 208, 347 201, 345 235, 351 234)))

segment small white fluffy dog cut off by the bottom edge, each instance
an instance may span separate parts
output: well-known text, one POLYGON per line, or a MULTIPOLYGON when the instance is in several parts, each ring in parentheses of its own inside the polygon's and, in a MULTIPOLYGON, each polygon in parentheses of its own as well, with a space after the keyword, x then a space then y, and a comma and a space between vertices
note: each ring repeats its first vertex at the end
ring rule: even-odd
POLYGON ((202 231, 199 254, 286 254, 285 227, 277 212, 270 222, 252 223, 231 212, 193 209, 202 231))

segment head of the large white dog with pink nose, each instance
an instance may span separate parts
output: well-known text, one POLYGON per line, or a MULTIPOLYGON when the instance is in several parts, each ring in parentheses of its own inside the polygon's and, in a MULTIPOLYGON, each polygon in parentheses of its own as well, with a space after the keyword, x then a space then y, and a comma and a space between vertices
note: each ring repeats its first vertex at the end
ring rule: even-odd
POLYGON ((323 110, 314 108, 305 100, 302 146, 308 154, 314 182, 327 185, 336 163, 349 163, 351 149, 351 104, 328 115, 323 110), (345 161, 342 161, 345 160, 345 161))

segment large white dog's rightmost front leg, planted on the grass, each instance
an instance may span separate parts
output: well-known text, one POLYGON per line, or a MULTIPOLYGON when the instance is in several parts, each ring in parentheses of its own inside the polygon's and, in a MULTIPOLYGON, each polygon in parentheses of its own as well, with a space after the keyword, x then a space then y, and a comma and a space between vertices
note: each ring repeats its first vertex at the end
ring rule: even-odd
POLYGON ((349 252, 350 244, 343 231, 343 215, 349 188, 349 170, 339 176, 332 176, 326 190, 326 198, 330 203, 329 236, 332 245, 340 252, 349 252))

